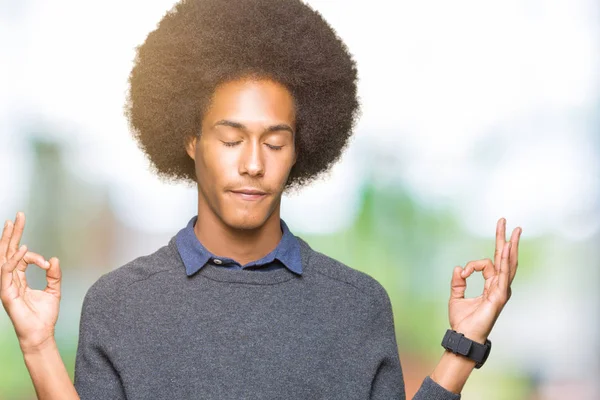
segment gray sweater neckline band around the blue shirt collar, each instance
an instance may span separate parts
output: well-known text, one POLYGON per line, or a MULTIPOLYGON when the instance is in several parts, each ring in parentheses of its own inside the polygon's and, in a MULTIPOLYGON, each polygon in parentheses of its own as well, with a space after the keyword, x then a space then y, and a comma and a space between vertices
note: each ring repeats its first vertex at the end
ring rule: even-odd
MULTIPOLYGON (((296 237, 300 242, 300 258, 302 261, 302 275, 297 275, 287 268, 278 268, 272 271, 248 271, 248 270, 229 270, 210 263, 206 264, 196 274, 188 276, 188 279, 206 278, 214 281, 241 283, 249 285, 275 285, 287 282, 292 279, 303 279, 309 272, 309 259, 312 248, 302 238, 296 237)), ((169 241, 169 248, 179 261, 178 268, 185 274, 185 264, 176 245, 176 236, 169 241)), ((186 275, 187 276, 187 275, 186 275)))

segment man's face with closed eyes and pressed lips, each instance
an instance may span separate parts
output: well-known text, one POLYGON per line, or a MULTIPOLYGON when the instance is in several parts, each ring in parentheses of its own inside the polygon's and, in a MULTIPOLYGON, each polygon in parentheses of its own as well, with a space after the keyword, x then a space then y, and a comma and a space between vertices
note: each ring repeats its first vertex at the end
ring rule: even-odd
POLYGON ((218 86, 199 138, 187 152, 196 164, 199 213, 234 229, 261 227, 279 216, 296 162, 291 93, 272 80, 241 79, 218 86))

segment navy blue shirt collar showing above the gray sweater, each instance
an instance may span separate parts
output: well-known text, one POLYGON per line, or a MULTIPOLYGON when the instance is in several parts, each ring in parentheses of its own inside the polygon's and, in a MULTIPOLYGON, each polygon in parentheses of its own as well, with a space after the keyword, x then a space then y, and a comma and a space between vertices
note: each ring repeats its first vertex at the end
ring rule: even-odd
POLYGON ((179 250, 179 254, 185 265, 185 272, 188 276, 198 272, 207 263, 237 270, 271 271, 279 268, 287 268, 298 275, 302 274, 300 243, 282 219, 279 221, 283 235, 277 247, 260 260, 252 261, 243 266, 231 258, 215 256, 202 245, 194 232, 194 225, 197 219, 197 215, 192 217, 187 226, 180 230, 175 238, 177 250, 179 250))

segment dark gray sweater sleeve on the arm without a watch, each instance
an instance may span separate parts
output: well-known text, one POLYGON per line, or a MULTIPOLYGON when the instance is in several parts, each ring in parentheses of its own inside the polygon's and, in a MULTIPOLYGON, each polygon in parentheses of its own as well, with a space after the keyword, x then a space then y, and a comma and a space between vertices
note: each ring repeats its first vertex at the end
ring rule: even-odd
POLYGON ((111 360, 111 349, 114 349, 111 343, 116 337, 113 327, 118 311, 116 296, 107 286, 101 277, 83 300, 75 358, 75 389, 82 400, 126 398, 121 378, 111 360))

